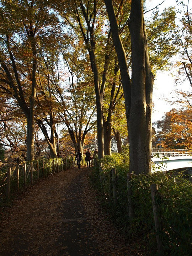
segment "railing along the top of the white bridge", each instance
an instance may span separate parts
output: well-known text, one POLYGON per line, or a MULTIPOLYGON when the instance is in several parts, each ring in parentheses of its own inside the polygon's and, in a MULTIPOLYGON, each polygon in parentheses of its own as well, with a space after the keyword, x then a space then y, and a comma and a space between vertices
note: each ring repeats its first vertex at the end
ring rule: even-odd
POLYGON ((151 158, 170 158, 178 156, 192 156, 187 149, 152 149, 151 158))

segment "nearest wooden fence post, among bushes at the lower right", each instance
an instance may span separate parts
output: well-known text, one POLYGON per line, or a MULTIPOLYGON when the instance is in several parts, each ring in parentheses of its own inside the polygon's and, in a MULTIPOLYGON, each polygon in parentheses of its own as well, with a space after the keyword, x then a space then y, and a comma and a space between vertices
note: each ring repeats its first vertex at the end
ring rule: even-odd
POLYGON ((151 199, 153 204, 153 215, 154 215, 154 222, 155 222, 155 232, 156 232, 156 240, 157 240, 157 247, 159 255, 163 255, 163 248, 162 248, 162 241, 159 235, 160 233, 160 223, 159 223, 159 207, 155 200, 156 191, 158 191, 157 184, 151 184, 151 199))

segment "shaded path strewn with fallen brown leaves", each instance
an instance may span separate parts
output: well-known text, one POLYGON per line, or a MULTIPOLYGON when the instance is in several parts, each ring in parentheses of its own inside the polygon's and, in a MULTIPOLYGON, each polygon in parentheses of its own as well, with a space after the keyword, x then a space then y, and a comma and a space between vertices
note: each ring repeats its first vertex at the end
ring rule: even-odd
POLYGON ((49 176, 0 209, 0 255, 144 255, 108 219, 89 185, 91 171, 49 176))

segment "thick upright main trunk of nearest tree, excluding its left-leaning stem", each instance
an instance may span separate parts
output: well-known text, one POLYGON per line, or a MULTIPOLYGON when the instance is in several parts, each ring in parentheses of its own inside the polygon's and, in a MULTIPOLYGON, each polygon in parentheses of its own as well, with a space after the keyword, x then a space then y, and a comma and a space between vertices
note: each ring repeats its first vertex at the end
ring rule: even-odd
POLYGON ((132 49, 132 90, 129 118, 130 170, 151 172, 152 93, 151 72, 143 16, 143 0, 132 0, 129 19, 132 49))

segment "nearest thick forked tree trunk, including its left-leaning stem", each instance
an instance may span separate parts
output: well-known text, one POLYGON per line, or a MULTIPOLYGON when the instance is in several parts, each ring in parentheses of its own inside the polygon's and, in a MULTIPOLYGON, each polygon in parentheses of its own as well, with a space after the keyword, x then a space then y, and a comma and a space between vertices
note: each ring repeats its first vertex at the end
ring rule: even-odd
POLYGON ((151 171, 151 104, 154 78, 148 57, 143 0, 132 0, 129 19, 132 46, 132 84, 130 84, 126 54, 119 35, 112 0, 105 0, 105 4, 118 56, 125 97, 130 172, 148 173, 151 171))

